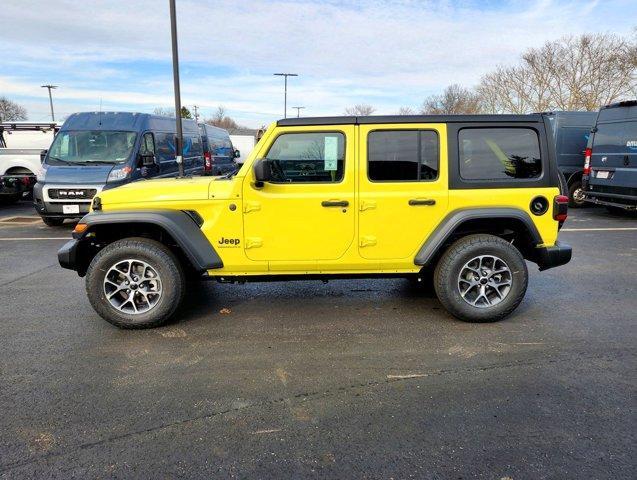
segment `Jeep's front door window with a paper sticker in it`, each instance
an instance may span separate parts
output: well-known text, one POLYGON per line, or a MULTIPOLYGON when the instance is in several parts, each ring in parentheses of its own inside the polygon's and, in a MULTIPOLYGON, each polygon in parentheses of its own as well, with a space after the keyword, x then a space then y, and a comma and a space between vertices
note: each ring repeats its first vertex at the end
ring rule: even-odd
POLYGON ((345 165, 345 136, 339 132, 284 133, 268 154, 273 183, 340 182, 345 165))

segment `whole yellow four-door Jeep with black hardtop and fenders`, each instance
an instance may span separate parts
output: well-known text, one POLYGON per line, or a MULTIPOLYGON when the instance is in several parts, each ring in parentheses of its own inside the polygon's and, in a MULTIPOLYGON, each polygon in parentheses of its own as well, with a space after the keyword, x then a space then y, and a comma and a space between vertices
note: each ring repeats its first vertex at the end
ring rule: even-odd
POLYGON ((432 278, 452 315, 499 320, 525 260, 571 258, 549 135, 542 115, 280 120, 234 174, 102 191, 59 261, 123 328, 165 323, 189 277, 432 278))

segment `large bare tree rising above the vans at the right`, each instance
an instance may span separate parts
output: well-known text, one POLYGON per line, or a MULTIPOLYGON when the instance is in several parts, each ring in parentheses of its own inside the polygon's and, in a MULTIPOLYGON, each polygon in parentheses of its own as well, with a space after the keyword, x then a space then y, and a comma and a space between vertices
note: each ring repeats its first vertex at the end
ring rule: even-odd
POLYGON ((585 34, 527 50, 519 65, 500 66, 477 88, 485 111, 597 110, 637 91, 637 38, 585 34))

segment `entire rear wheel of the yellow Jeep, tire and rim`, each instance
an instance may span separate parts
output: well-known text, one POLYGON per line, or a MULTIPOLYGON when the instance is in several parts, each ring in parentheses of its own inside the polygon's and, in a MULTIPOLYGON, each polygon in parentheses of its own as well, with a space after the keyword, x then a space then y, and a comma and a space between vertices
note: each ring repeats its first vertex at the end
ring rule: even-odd
POLYGON ((517 248, 495 235, 468 235, 436 265, 434 288, 449 313, 465 322, 495 322, 517 308, 529 281, 517 248))

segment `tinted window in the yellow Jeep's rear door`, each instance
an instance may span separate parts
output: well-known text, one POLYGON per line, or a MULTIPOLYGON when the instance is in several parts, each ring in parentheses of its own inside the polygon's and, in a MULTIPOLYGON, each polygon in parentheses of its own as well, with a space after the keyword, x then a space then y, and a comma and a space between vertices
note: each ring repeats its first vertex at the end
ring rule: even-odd
POLYGON ((371 181, 432 181, 438 178, 438 134, 431 130, 387 130, 367 136, 371 181))

